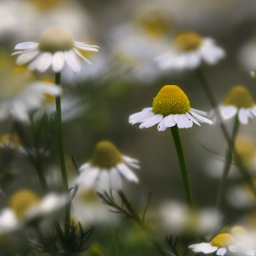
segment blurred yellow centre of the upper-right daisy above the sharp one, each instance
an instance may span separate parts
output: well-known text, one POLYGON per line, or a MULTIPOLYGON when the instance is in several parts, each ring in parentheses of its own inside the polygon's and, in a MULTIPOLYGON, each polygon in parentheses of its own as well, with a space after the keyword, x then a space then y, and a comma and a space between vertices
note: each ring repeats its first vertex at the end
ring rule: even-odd
POLYGON ((203 37, 194 31, 183 31, 176 35, 175 45, 185 51, 194 50, 201 46, 203 37))

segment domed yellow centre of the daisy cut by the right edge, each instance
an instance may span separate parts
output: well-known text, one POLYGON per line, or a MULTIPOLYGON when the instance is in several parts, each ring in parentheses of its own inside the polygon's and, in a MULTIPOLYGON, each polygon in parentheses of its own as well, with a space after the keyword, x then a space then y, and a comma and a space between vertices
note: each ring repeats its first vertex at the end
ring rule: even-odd
POLYGON ((242 85, 234 86, 224 100, 224 105, 233 105, 238 108, 249 109, 253 107, 254 101, 250 92, 242 85))

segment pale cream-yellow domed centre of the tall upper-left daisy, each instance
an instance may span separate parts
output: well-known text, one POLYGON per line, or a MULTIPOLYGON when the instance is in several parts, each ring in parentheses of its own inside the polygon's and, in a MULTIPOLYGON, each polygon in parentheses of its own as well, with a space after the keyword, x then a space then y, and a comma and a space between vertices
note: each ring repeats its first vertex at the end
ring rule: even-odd
POLYGON ((44 31, 39 38, 39 50, 51 53, 74 48, 72 34, 65 27, 54 26, 44 31))

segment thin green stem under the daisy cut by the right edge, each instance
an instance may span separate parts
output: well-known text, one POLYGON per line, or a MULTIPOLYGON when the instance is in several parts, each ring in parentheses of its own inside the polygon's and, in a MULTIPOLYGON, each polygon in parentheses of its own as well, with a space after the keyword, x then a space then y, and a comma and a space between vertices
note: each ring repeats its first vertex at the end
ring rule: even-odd
POLYGON ((234 151, 235 141, 236 141, 237 135, 239 133, 239 128, 240 128, 240 121, 239 121, 238 115, 236 115, 233 131, 232 131, 232 135, 231 135, 231 142, 230 142, 229 148, 227 150, 223 174, 221 176, 220 183, 219 183, 219 191, 218 191, 218 197, 217 197, 217 203, 216 203, 216 210, 219 210, 220 205, 221 205, 221 200, 224 195, 225 185, 226 185, 227 178, 229 176, 229 169, 230 169, 230 166, 232 163, 232 153, 234 151))

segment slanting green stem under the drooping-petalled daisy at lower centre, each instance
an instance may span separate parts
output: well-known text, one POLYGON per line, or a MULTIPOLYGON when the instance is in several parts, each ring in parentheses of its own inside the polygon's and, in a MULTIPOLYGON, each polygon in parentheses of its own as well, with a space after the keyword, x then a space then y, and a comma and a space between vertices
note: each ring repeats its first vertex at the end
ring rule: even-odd
MULTIPOLYGON (((127 199, 127 197, 124 195, 123 191, 118 191, 118 195, 122 198, 122 201, 125 205, 125 207, 130 211, 131 217, 135 220, 135 222, 142 228, 144 231, 146 231, 146 227, 144 225, 144 221, 139 217, 139 215, 136 213, 136 211, 133 209, 131 203, 127 199)), ((154 238, 151 238, 152 243, 155 245, 156 250, 162 255, 166 256, 165 251, 161 248, 158 241, 156 241, 154 238)))

